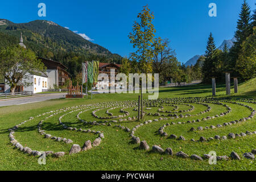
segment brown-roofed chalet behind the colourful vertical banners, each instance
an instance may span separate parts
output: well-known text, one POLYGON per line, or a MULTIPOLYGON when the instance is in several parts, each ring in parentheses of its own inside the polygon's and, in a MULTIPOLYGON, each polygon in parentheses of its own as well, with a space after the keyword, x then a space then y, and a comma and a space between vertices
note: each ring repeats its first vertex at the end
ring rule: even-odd
POLYGON ((100 63, 98 68, 98 73, 106 73, 109 76, 109 80, 102 80, 98 81, 94 86, 96 88, 106 88, 109 86, 117 86, 114 82, 110 82, 110 69, 115 70, 115 76, 119 73, 121 68, 121 64, 115 64, 115 63, 100 63))

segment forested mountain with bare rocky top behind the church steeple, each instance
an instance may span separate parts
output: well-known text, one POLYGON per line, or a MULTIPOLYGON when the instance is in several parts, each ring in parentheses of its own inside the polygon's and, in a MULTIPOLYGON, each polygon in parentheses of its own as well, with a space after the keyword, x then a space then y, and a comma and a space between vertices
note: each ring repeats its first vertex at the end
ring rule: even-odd
POLYGON ((0 32, 18 39, 22 32, 27 47, 33 51, 42 51, 43 48, 47 48, 53 53, 72 51, 86 56, 106 56, 117 60, 122 58, 119 55, 113 55, 108 49, 84 39, 82 36, 85 34, 76 34, 50 20, 12 23, 6 19, 0 19, 0 32))

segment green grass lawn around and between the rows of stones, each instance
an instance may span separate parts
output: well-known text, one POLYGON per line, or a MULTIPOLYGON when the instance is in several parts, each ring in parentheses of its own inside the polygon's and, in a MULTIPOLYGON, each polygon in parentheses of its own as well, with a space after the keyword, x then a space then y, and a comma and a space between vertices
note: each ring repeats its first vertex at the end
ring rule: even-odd
MULTIPOLYGON (((209 151, 216 151, 218 156, 227 155, 230 156, 232 151, 237 152, 240 155, 241 160, 232 160, 231 158, 227 161, 217 161, 216 165, 210 165, 208 160, 197 161, 192 159, 183 159, 175 155, 164 155, 153 153, 151 151, 140 150, 138 148, 139 144, 131 143, 130 133, 125 130, 115 127, 114 125, 122 125, 133 129, 139 123, 148 121, 148 119, 158 119, 159 116, 145 115, 143 121, 118 121, 118 123, 112 123, 112 126, 103 125, 90 125, 84 124, 79 119, 77 119, 77 114, 81 110, 77 108, 71 110, 63 111, 59 114, 50 115, 52 113, 41 115, 36 117, 36 115, 46 113, 48 111, 55 111, 63 107, 72 107, 79 105, 97 104, 102 102, 114 102, 118 101, 119 104, 127 103, 123 101, 127 100, 137 100, 138 94, 96 94, 93 96, 93 100, 86 99, 71 99, 71 100, 49 100, 43 102, 37 102, 33 104, 26 105, 15 105, 0 107, 0 170, 256 170, 255 160, 246 159, 242 156, 245 152, 251 152, 256 148, 256 135, 246 135, 246 137, 237 137, 236 139, 226 139, 226 140, 211 140, 207 142, 192 142, 191 139, 198 140, 201 136, 206 139, 214 137, 214 135, 228 135, 229 133, 240 134, 246 131, 256 130, 256 119, 255 117, 247 120, 245 122, 236 123, 236 125, 228 125, 216 129, 204 129, 201 131, 189 132, 191 127, 195 129, 199 126, 206 127, 210 125, 223 124, 225 122, 230 122, 234 120, 239 120, 240 118, 248 117, 251 114, 251 110, 245 106, 238 105, 239 103, 248 105, 255 109, 255 104, 244 102, 242 100, 237 100, 238 98, 250 98, 256 99, 256 78, 240 84, 238 89, 238 94, 233 94, 229 98, 232 101, 236 101, 237 104, 229 103, 226 101, 220 101, 223 104, 228 105, 232 111, 223 117, 218 117, 214 119, 209 119, 207 121, 187 123, 187 121, 192 121, 196 119, 206 118, 207 116, 214 116, 216 114, 220 115, 227 111, 227 108, 223 105, 214 104, 210 101, 208 104, 211 109, 210 111, 200 114, 201 111, 207 109, 207 106, 201 105, 200 103, 185 103, 195 107, 192 111, 184 111, 183 115, 191 114, 188 118, 175 118, 167 117, 167 120, 162 120, 158 122, 148 123, 139 127, 135 131, 135 136, 139 137, 141 140, 146 140, 150 149, 154 145, 162 147, 164 150, 167 147, 172 148, 174 154, 179 151, 183 151, 188 155, 199 155, 208 154, 209 151), (61 118, 61 122, 68 127, 76 127, 82 130, 95 130, 104 133, 104 137, 101 144, 97 147, 93 147, 88 151, 82 151, 78 154, 68 155, 72 144, 79 144, 81 147, 86 140, 91 140, 97 138, 97 135, 92 133, 81 133, 77 131, 65 130, 59 123, 59 117, 67 113, 61 118), (53 158, 52 156, 47 156, 46 165, 38 164, 38 156, 32 156, 24 154, 22 151, 17 150, 11 145, 9 139, 8 129, 18 125, 19 123, 28 120, 30 117, 34 117, 31 121, 24 123, 24 125, 19 126, 18 130, 15 131, 14 137, 23 147, 27 146, 32 148, 32 150, 38 151, 64 151, 67 155, 61 158, 53 158), (47 134, 52 136, 69 138, 73 140, 72 144, 66 144, 64 142, 56 142, 52 139, 44 138, 38 132, 38 123, 43 121, 42 130, 45 130, 47 134), (158 134, 157 131, 159 127, 165 125, 166 123, 174 122, 176 125, 166 126, 164 132, 168 135, 175 134, 178 137, 182 135, 186 140, 180 141, 176 139, 168 139, 168 137, 163 137, 158 134), (178 122, 185 122, 184 124, 178 124, 178 122)), ((147 94, 144 94, 144 98, 147 94)), ((159 98, 185 98, 185 97, 211 97, 210 85, 193 85, 184 86, 179 88, 160 88, 159 98)), ((226 98, 225 96, 225 85, 217 85, 217 97, 220 100, 226 98)), ((216 101, 214 101, 216 102, 216 101)), ((191 106, 183 105, 183 102, 177 102, 176 105, 180 110, 188 110, 191 106)), ((134 111, 134 106, 128 106, 125 111, 130 113, 128 117, 133 117, 137 115, 137 111, 134 111)), ((113 106, 106 106, 101 108, 96 112, 96 115, 100 117, 108 117, 106 111, 113 106)), ((144 106, 150 107, 150 113, 157 113, 160 108, 159 104, 156 106, 144 106)), ((118 106, 116 109, 109 110, 113 115, 121 115, 120 109, 122 106, 118 106)), ((88 111, 82 112, 79 117, 85 121, 112 121, 113 119, 98 119, 93 117, 91 107, 87 107, 88 111)), ((85 110, 86 110, 85 109, 85 110)), ((174 106, 163 106, 163 110, 175 111, 174 106)), ((145 110, 148 112, 148 110, 145 110)), ((160 113, 162 114, 162 113, 160 113)), ((165 114, 165 113, 163 113, 165 114)), ((178 113, 179 115, 180 113, 178 113)))

